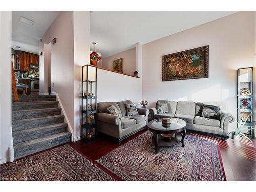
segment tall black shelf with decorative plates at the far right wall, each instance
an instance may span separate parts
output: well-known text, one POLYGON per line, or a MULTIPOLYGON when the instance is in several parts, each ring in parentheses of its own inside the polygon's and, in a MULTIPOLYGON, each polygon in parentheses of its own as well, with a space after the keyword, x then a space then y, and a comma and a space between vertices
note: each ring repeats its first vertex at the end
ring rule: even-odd
MULTIPOLYGON (((237 70, 237 119, 238 125, 243 125, 243 131, 247 132, 245 135, 249 138, 255 135, 254 129, 250 128, 254 126, 253 98, 253 67, 240 68, 237 70)), ((230 132, 232 136, 239 133, 237 130, 236 133, 230 132)))

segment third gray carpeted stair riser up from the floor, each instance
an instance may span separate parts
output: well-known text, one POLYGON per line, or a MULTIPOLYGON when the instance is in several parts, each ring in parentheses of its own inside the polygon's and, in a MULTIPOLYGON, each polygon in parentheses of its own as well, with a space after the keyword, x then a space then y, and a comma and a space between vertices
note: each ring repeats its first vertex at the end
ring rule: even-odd
POLYGON ((57 124, 62 122, 64 122, 64 116, 48 118, 48 119, 37 119, 37 120, 31 120, 29 122, 22 122, 22 123, 13 122, 12 131, 32 129, 35 127, 48 126, 51 124, 57 124))

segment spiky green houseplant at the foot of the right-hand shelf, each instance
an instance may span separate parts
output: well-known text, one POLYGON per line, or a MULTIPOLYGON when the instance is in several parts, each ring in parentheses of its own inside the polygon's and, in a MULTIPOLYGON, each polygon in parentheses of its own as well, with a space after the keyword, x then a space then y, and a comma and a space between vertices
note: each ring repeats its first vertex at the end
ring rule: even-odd
POLYGON ((248 139, 250 141, 250 143, 252 144, 250 138, 245 135, 246 134, 245 131, 253 130, 253 129, 255 129, 255 127, 245 125, 247 120, 248 120, 248 117, 245 120, 244 120, 244 118, 242 118, 240 121, 237 121, 238 126, 236 128, 231 126, 232 129, 234 129, 234 131, 229 132, 229 134, 231 134, 232 139, 234 139, 235 137, 243 137, 245 139, 248 139))

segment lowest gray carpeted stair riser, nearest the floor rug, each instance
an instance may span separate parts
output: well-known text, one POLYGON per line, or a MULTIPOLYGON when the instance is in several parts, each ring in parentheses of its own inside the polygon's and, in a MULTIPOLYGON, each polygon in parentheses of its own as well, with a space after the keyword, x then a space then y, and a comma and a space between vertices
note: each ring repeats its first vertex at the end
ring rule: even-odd
POLYGON ((70 137, 61 138, 47 143, 36 143, 34 145, 26 146, 26 148, 23 148, 22 150, 18 150, 18 148, 14 147, 14 159, 16 160, 18 158, 25 157, 27 155, 31 155, 33 153, 40 152, 68 142, 70 142, 70 137))

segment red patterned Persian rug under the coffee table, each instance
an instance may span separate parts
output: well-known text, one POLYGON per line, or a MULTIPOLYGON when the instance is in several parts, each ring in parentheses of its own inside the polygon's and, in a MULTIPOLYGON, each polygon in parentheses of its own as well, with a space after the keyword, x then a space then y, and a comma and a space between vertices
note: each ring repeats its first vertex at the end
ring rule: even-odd
POLYGON ((152 133, 147 131, 98 159, 125 181, 225 181, 218 142, 186 135, 172 147, 154 153, 152 133))

